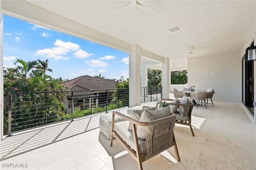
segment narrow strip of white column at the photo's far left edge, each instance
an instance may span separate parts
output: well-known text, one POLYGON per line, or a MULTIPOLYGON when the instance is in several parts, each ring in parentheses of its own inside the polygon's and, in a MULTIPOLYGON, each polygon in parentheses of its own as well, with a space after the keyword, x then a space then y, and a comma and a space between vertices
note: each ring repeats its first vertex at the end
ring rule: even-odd
POLYGON ((1 140, 2 136, 4 135, 4 73, 3 73, 3 13, 2 7, 0 2, 0 135, 1 140))

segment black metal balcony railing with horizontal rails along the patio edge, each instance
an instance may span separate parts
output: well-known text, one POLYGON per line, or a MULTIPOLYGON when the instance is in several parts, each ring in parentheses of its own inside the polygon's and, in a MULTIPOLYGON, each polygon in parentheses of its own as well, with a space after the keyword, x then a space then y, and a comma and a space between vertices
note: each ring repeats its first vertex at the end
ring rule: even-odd
MULTIPOLYGON (((159 88, 142 88, 141 102, 160 99, 159 88)), ((10 93, 4 104, 4 134, 11 136, 20 130, 129 107, 129 89, 10 93)))

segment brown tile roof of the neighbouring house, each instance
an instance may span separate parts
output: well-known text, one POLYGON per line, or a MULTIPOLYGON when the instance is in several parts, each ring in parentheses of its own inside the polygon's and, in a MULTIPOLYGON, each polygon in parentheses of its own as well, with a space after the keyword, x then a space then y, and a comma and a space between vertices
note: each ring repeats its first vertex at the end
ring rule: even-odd
POLYGON ((115 89, 116 81, 106 80, 100 77, 91 77, 88 75, 76 77, 72 80, 62 83, 65 87, 70 88, 71 91, 88 91, 101 89, 115 89))

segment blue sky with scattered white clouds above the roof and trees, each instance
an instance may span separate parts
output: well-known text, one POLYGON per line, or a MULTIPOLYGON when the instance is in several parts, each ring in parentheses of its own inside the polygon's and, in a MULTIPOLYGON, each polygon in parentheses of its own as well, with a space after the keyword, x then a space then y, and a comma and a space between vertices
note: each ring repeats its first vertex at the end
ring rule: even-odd
POLYGON ((128 78, 129 54, 4 15, 4 67, 24 61, 49 60, 46 74, 63 79, 81 75, 128 78))

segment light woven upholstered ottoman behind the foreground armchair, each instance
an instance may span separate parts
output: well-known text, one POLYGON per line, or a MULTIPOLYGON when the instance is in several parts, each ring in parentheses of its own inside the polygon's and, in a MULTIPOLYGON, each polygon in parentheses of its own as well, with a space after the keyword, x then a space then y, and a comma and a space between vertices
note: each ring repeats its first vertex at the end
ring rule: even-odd
MULTIPOLYGON (((115 115, 115 122, 125 121, 124 118, 115 115)), ((100 116, 100 131, 110 139, 111 134, 111 124, 112 124, 112 113, 104 114, 100 116)), ((128 128, 128 127, 127 127, 128 128)))

